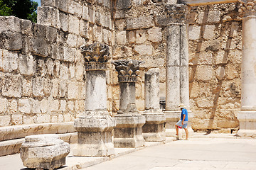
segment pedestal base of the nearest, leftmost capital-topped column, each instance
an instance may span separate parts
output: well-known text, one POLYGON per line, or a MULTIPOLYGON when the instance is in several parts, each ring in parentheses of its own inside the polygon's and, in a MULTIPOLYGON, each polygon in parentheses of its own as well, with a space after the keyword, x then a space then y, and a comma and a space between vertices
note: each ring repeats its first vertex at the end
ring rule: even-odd
POLYGON ((116 122, 107 111, 86 111, 75 119, 78 131, 78 145, 74 156, 105 157, 114 154, 112 130, 116 122))

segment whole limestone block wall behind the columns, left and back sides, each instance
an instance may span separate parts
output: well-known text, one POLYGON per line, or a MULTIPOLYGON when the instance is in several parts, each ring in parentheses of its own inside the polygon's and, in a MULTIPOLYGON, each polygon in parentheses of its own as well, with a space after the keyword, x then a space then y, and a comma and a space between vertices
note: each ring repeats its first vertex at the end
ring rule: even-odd
MULTIPOLYGON (((0 17, 0 126, 73 121, 85 111, 79 47, 110 45, 112 60, 145 61, 137 108, 144 110, 144 72, 160 69, 165 97, 166 4, 174 1, 42 0, 38 23, 0 17)), ((195 130, 238 128, 242 21, 238 5, 190 9, 189 92, 195 130)), ((107 71, 107 107, 119 109, 119 84, 107 71)))

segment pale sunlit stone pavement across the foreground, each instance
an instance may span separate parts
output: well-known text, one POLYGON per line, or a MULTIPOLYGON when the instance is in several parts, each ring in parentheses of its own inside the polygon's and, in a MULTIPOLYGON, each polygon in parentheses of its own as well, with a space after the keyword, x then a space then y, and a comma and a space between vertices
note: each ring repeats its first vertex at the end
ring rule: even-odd
MULTIPOLYGON (((71 152, 67 164, 60 169, 256 169, 256 140, 220 134, 171 140, 169 138, 169 143, 164 145, 146 142, 147 147, 139 149, 115 149, 112 157, 73 157, 71 152)), ((19 154, 0 157, 0 169, 27 170, 19 154)))

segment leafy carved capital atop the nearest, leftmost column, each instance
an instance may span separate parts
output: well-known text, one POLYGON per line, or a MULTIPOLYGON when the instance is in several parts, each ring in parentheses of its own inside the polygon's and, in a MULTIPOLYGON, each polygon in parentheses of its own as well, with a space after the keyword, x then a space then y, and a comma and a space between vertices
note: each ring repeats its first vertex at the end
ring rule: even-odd
POLYGON ((110 47, 105 44, 94 43, 80 47, 85 57, 85 70, 106 70, 110 59, 110 47))

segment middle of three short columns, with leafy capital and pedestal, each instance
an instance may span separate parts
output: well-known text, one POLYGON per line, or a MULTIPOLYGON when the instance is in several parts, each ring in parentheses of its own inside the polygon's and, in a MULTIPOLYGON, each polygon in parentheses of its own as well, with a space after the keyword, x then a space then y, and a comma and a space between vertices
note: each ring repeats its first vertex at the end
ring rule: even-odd
POLYGON ((114 147, 136 148, 144 145, 142 126, 145 123, 143 115, 139 114, 135 103, 135 82, 139 75, 137 60, 117 60, 112 62, 118 72, 120 86, 120 106, 114 118, 117 121, 114 128, 114 147))

